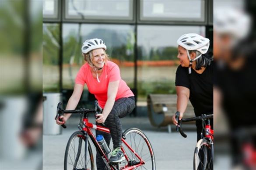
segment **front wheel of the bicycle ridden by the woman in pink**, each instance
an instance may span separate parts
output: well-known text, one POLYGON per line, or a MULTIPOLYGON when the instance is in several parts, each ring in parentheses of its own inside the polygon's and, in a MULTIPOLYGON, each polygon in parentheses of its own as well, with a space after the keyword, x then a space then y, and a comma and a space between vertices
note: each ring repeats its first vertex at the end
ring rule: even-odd
POLYGON ((74 132, 67 142, 64 170, 94 170, 91 145, 88 141, 87 156, 85 157, 85 136, 81 131, 74 132))

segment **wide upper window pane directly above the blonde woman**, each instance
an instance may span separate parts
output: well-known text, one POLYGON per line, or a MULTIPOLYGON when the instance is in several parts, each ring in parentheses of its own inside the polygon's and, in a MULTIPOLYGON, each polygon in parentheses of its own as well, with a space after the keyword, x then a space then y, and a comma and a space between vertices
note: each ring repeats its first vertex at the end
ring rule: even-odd
POLYGON ((132 19, 132 0, 66 0, 66 18, 132 19))

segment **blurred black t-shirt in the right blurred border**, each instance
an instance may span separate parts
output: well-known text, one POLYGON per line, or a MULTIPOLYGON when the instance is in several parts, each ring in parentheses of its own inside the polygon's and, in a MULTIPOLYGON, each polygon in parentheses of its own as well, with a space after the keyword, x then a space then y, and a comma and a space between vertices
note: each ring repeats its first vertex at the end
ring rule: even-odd
POLYGON ((215 85, 221 90, 222 107, 231 128, 256 124, 256 59, 247 58, 240 70, 217 68, 215 85))

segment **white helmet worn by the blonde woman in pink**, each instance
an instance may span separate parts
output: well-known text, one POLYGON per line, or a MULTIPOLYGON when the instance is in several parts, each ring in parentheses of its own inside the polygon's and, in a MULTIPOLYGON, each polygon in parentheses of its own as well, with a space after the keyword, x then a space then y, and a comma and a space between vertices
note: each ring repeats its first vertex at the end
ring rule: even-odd
POLYGON ((87 54, 89 51, 97 48, 103 48, 104 50, 107 50, 107 46, 105 45, 104 41, 98 38, 94 38, 84 41, 81 50, 82 53, 87 54))

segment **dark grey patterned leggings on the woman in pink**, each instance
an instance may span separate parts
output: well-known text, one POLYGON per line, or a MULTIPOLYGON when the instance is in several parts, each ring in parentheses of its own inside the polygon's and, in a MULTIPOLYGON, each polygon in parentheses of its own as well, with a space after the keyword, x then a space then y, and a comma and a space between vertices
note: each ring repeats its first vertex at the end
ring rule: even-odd
MULTIPOLYGON (((112 137, 114 148, 121 146, 123 129, 120 118, 127 116, 129 113, 133 111, 134 108, 134 97, 121 98, 116 100, 111 112, 109 113, 109 116, 107 117, 104 123, 105 127, 109 128, 110 134, 96 130, 96 136, 103 135, 108 146, 110 143, 110 139, 112 137)), ((106 165, 103 162, 102 157, 100 156, 98 151, 96 156, 96 163, 97 170, 105 170, 106 165)))

